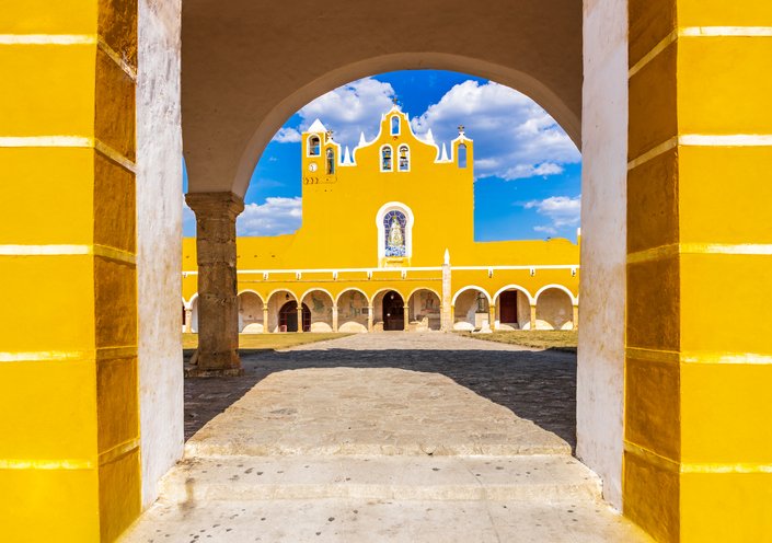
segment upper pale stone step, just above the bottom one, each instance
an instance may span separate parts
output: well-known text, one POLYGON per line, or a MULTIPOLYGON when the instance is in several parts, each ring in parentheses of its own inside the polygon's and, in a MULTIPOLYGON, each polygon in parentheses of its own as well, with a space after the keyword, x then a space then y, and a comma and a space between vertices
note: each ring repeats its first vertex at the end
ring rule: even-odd
POLYGON ((272 499, 600 499, 598 476, 568 455, 221 457, 182 462, 162 483, 169 502, 272 499))

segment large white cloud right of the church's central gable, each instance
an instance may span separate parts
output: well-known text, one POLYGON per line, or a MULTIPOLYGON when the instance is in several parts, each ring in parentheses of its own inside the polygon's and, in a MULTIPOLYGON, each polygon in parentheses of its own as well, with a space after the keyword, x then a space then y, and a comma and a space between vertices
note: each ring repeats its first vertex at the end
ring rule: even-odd
POLYGON ((413 118, 416 134, 429 128, 439 141, 458 136, 464 125, 474 140, 477 177, 504 180, 548 176, 581 160, 565 131, 528 96, 493 81, 464 81, 413 118))

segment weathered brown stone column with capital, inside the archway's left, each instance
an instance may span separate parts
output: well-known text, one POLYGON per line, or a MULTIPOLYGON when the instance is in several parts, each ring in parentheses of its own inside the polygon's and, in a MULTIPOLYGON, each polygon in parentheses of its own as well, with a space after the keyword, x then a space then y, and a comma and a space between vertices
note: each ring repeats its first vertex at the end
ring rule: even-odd
POLYGON ((191 193, 198 262, 198 368, 201 376, 241 374, 235 275, 235 218, 244 201, 233 193, 191 193))

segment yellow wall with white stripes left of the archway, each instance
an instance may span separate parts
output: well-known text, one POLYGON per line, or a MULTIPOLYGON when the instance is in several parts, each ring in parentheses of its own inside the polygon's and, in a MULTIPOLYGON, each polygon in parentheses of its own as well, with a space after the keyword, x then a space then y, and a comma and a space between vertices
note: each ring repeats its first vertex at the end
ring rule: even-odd
POLYGON ((0 539, 112 541, 140 510, 137 7, 0 11, 0 539))

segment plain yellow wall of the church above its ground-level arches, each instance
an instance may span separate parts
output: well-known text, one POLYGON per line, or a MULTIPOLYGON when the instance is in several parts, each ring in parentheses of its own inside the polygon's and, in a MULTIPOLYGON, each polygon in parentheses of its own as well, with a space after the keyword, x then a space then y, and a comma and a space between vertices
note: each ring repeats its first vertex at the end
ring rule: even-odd
MULTIPOLYGON (((355 288, 372 301, 384 289, 396 290, 406 300, 415 289, 427 288, 441 297, 447 250, 452 267, 451 297, 471 285, 492 298, 507 286, 521 287, 535 297, 543 287, 560 285, 578 298, 577 244, 564 239, 474 241, 474 142, 465 135, 450 143, 443 160, 440 148, 417 138, 407 116, 394 107, 382 116, 378 136, 360 143, 347 162, 334 135, 321 124, 314 127, 319 129, 304 132, 301 140, 302 224, 293 234, 238 239, 240 292, 251 290, 267 301, 280 289, 301 297, 320 288, 337 297, 355 288), (393 118, 400 124, 396 135, 391 132, 393 118), (310 154, 312 137, 320 141, 318 157, 310 154), (466 146, 465 167, 458 162, 461 143, 466 146), (391 172, 381 171, 383 146, 392 150, 391 172), (410 171, 399 169, 401 146, 410 149, 410 171), (332 173, 327 172, 327 151, 334 158, 332 173), (413 250, 404 259, 379 254, 378 213, 389 203, 406 206, 414 218, 413 250), (390 270, 392 266, 404 268, 404 276, 401 270, 390 270), (487 269, 502 266, 520 269, 487 269), (531 270, 533 266, 539 268, 531 270), (311 272, 314 269, 324 272, 311 272), (266 270, 270 270, 267 276, 263 274, 266 270), (302 270, 300 278, 297 270, 302 270)), ((197 291, 194 239, 184 240, 183 269, 183 298, 189 303, 197 291)))

